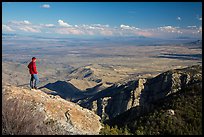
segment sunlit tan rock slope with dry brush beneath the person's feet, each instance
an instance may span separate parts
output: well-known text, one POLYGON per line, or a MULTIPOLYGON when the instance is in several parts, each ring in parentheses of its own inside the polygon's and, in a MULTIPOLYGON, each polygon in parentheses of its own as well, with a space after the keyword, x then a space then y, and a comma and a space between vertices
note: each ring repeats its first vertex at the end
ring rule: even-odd
POLYGON ((98 134, 100 117, 40 90, 2 87, 3 134, 98 134))

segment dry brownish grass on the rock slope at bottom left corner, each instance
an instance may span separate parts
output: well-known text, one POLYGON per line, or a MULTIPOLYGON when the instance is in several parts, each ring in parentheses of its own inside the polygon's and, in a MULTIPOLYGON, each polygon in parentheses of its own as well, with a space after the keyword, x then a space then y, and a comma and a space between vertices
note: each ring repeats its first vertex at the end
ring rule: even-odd
POLYGON ((3 135, 46 135, 54 134, 50 126, 43 123, 42 112, 34 111, 29 104, 17 99, 2 98, 3 135))

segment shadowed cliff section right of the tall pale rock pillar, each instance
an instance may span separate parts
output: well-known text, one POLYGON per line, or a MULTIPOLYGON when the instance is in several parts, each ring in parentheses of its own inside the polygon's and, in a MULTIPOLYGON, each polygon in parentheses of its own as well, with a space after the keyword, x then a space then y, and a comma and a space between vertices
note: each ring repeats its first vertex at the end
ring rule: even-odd
POLYGON ((182 88, 202 81, 202 66, 192 66, 164 72, 147 80, 141 94, 141 104, 157 101, 182 88))

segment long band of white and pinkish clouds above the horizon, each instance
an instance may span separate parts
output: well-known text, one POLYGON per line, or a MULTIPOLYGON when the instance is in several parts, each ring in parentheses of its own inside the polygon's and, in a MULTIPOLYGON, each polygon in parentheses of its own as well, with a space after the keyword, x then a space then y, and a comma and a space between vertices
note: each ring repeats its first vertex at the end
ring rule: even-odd
POLYGON ((89 35, 89 36, 146 36, 146 37, 176 37, 200 36, 202 27, 189 25, 185 28, 175 26, 161 26, 158 28, 137 28, 121 24, 119 26, 109 26, 108 24, 73 24, 70 25, 63 20, 58 20, 58 24, 32 24, 28 20, 10 21, 2 25, 4 31, 25 31, 32 33, 51 33, 62 35, 89 35))

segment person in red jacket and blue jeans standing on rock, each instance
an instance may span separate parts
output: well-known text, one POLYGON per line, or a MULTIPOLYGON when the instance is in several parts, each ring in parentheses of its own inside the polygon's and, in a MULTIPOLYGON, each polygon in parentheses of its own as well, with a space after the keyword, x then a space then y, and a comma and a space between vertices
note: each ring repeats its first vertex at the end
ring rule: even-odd
POLYGON ((36 58, 35 57, 32 58, 32 61, 29 63, 28 68, 29 68, 29 72, 31 75, 30 87, 31 87, 31 89, 37 89, 37 84, 39 82, 39 79, 38 79, 38 75, 37 75, 38 72, 37 72, 36 58))

